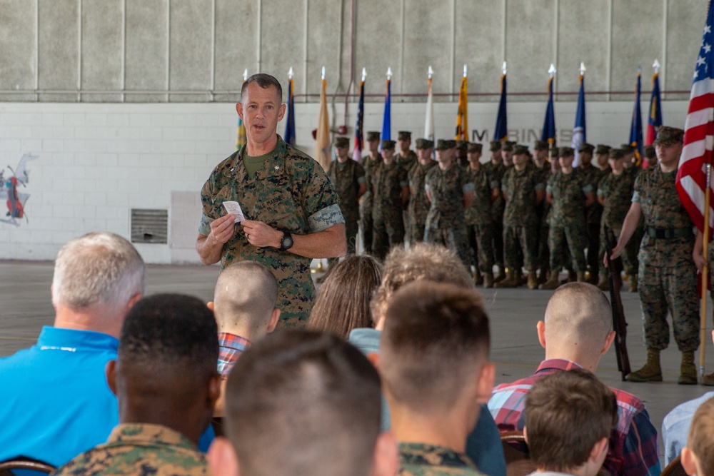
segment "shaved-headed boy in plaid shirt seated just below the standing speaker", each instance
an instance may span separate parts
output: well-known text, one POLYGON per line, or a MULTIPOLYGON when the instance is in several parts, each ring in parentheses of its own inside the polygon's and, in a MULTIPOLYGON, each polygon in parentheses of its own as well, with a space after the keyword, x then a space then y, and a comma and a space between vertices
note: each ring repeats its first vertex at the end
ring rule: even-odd
MULTIPOLYGON (((273 332, 280 310, 276 309, 278 281, 268 268, 255 261, 239 261, 226 266, 218 275, 213 301, 208 308, 213 310, 218 323, 218 372, 225 380, 236 360, 251 343, 273 332)), ((223 395, 223 392, 221 392, 223 395)), ((216 412, 223 408, 221 400, 216 412)))

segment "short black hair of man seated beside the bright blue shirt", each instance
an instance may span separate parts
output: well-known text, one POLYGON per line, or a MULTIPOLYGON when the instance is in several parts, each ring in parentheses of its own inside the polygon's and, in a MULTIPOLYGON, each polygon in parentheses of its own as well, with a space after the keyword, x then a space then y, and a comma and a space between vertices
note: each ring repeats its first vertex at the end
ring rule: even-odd
POLYGON ((216 319, 203 301, 192 296, 142 298, 126 314, 117 357, 122 365, 170 366, 215 374, 216 319))

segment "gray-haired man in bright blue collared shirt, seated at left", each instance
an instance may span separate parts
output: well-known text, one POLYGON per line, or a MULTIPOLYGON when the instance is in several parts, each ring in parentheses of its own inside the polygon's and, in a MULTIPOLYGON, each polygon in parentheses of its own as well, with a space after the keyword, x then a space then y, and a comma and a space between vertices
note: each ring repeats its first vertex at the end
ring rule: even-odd
POLYGON ((62 247, 51 286, 54 326, 0 359, 0 461, 59 466, 106 441, 119 414, 104 368, 143 293, 144 261, 121 236, 89 233, 62 247))

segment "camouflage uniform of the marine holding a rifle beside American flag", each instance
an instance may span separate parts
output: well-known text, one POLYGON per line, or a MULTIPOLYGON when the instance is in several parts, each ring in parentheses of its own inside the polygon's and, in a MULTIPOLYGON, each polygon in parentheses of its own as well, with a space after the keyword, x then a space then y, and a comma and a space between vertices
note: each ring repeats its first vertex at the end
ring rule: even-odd
POLYGON ((693 224, 675 189, 677 171, 659 167, 635 180, 632 201, 640 203, 645 236, 640 245, 639 287, 647 348, 669 344, 667 312, 681 352, 699 347, 697 270, 692 258, 693 224))

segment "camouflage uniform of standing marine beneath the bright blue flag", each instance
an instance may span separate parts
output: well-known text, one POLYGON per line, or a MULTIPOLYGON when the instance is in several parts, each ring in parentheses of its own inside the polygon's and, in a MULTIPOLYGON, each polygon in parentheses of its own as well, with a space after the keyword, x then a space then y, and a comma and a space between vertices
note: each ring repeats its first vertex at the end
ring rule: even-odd
POLYGON ((396 161, 382 162, 369 173, 373 192, 372 253, 383 260, 390 248, 404 244, 402 187, 408 186, 406 171, 396 161))

